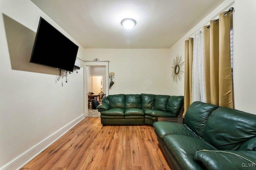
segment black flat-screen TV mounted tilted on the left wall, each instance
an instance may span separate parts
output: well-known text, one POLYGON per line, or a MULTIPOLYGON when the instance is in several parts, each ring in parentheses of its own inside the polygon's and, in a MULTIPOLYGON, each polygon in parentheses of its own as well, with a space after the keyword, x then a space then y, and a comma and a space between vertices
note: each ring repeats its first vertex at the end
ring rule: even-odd
POLYGON ((78 46, 40 17, 30 63, 73 71, 78 46))

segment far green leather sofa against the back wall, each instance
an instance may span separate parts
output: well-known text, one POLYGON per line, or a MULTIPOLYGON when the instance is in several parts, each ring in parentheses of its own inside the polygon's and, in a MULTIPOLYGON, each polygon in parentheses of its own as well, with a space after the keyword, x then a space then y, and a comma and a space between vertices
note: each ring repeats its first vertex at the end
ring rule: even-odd
POLYGON ((115 94, 103 98, 96 109, 102 125, 153 125, 158 117, 182 123, 183 106, 184 96, 115 94))

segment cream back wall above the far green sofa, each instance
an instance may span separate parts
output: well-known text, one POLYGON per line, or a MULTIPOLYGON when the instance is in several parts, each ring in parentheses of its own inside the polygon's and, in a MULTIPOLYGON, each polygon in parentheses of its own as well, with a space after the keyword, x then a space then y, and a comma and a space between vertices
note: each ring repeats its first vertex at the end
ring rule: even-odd
POLYGON ((183 95, 172 90, 170 49, 85 49, 84 57, 110 61, 115 76, 109 94, 183 95))

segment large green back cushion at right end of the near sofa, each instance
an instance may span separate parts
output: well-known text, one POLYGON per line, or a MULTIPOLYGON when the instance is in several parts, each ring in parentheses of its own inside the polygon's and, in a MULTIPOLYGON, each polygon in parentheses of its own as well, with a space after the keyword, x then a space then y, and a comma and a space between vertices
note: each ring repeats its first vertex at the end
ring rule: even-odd
POLYGON ((220 150, 237 150, 253 137, 256 137, 256 115, 227 107, 212 112, 203 133, 203 139, 220 150))

